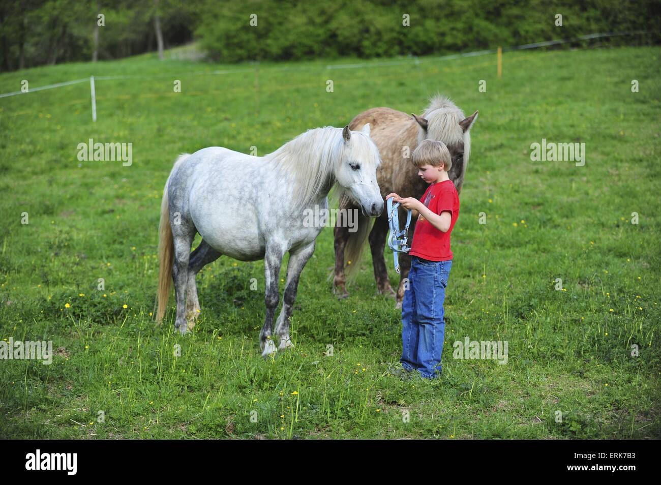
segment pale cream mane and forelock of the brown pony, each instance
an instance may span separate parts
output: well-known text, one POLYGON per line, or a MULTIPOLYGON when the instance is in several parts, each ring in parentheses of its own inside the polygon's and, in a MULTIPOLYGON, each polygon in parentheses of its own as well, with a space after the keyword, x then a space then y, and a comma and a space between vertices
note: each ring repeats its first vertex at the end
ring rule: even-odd
MULTIPOLYGON (((422 114, 429 122, 428 137, 444 143, 460 143, 463 141, 463 159, 468 164, 471 153, 471 133, 463 132, 459 122, 466 118, 463 111, 450 98, 436 94, 429 99, 429 104, 422 114)), ((424 139, 424 130, 418 131, 418 144, 424 139)))

